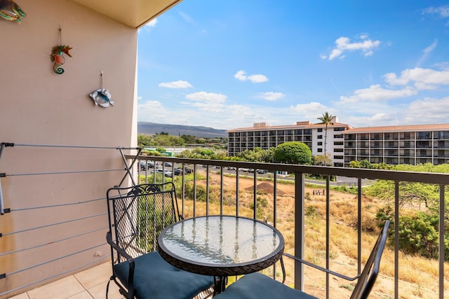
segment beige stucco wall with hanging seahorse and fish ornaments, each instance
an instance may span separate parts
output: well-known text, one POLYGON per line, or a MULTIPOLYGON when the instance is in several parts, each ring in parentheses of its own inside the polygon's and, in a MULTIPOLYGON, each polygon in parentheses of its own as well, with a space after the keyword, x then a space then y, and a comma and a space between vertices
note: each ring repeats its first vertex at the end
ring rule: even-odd
MULTIPOLYGON (((0 142, 71 146, 135 146, 136 57, 138 32, 72 0, 18 0, 27 16, 22 22, 0 19, 0 142), (72 57, 53 72, 50 54, 60 43, 71 46, 72 57), (114 106, 95 106, 89 94, 109 89, 114 106)), ((123 169, 119 151, 112 149, 5 148, 0 157, 4 206, 11 213, 0 216, 0 253, 52 242, 88 230, 98 232, 49 246, 0 256, 0 274, 11 273, 90 246, 69 258, 0 279, 0 294, 43 277, 51 277, 109 253, 105 200, 56 209, 27 209, 43 205, 76 203, 105 197, 107 188, 119 183, 123 172, 14 176, 36 172, 86 169, 123 169), (103 214, 65 225, 7 235, 29 228, 103 214), (6 234, 6 235, 5 235, 6 234), (103 245, 101 245, 103 244, 103 245)), ((54 277, 58 279, 60 277, 54 277)), ((43 281, 40 284, 48 283, 43 281)), ((34 284, 28 288, 34 288, 34 284)), ((0 295, 8 298, 14 293, 0 295)))

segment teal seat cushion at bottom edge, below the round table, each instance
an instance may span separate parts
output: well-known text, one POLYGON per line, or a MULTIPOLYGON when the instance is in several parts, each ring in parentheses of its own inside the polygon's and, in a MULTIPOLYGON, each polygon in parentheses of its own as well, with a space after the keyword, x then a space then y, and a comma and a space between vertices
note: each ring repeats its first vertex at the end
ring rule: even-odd
POLYGON ((246 274, 234 284, 229 285, 225 291, 215 295, 214 299, 311 299, 311 296, 302 291, 290 288, 279 281, 260 273, 246 274))

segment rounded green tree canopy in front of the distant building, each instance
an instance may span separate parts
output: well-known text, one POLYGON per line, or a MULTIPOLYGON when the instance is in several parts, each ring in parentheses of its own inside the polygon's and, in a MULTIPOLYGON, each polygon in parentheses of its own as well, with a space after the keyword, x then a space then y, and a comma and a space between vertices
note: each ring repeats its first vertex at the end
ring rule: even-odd
POLYGON ((310 165, 311 150, 307 144, 300 141, 288 141, 276 146, 274 160, 276 162, 310 165))

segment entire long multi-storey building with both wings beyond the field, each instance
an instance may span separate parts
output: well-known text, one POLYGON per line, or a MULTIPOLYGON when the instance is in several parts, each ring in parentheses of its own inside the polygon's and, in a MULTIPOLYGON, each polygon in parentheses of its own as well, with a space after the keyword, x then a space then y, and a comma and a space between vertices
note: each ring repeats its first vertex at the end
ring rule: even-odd
MULTIPOLYGON (((312 155, 323 155, 326 125, 309 121, 295 125, 269 126, 255 123, 227 131, 228 155, 260 147, 268 149, 287 141, 301 141, 312 155)), ((333 165, 349 167, 353 160, 389 165, 449 162, 449 124, 359 127, 338 123, 328 125, 326 153, 333 165)))

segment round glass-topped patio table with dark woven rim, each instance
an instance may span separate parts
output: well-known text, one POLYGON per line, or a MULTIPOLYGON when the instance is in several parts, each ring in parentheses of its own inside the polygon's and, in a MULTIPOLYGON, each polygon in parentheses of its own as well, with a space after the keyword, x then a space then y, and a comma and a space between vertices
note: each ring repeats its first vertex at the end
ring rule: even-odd
POLYGON ((284 249, 272 225, 238 216, 200 216, 165 228, 158 251, 168 263, 198 274, 225 277, 263 270, 284 249))

